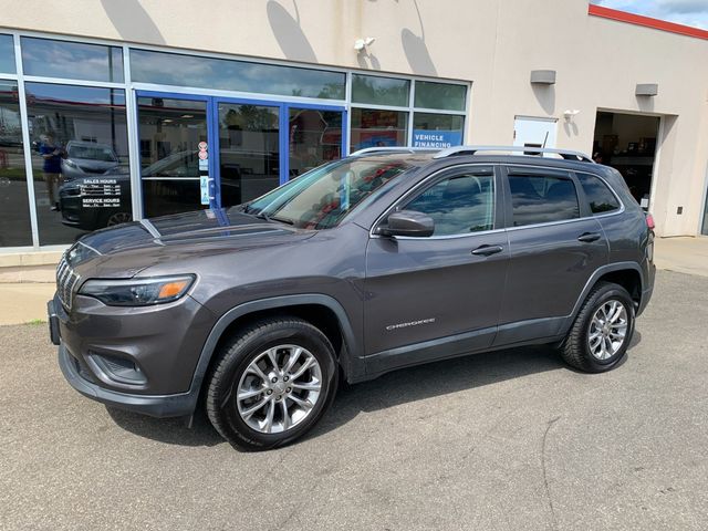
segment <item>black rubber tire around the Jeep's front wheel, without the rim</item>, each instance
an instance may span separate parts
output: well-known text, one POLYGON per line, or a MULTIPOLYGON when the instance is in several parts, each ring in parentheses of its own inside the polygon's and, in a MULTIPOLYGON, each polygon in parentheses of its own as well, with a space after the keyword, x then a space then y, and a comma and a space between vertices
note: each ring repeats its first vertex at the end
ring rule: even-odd
POLYGON ((336 392, 339 369, 332 345, 323 334, 309 325, 292 322, 269 325, 252 334, 246 342, 233 345, 228 351, 225 363, 218 382, 215 382, 217 407, 223 428, 228 430, 227 438, 242 449, 269 449, 301 437, 316 424, 332 403, 336 392), (236 391, 241 375, 256 356, 268 348, 283 344, 302 346, 316 358, 322 369, 321 395, 314 409, 294 428, 282 434, 262 434, 252 429, 241 418, 235 399, 236 391), (227 393, 231 393, 231 396, 225 402, 227 393))

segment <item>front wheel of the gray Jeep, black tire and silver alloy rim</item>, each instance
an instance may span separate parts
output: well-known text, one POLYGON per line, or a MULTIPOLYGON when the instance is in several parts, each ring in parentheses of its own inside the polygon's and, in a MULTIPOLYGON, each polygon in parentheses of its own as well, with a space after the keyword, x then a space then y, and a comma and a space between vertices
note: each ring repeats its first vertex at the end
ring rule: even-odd
POLYGON ((292 442, 334 400, 334 348, 320 330, 300 319, 258 321, 230 339, 218 356, 207 387, 207 415, 237 449, 292 442))

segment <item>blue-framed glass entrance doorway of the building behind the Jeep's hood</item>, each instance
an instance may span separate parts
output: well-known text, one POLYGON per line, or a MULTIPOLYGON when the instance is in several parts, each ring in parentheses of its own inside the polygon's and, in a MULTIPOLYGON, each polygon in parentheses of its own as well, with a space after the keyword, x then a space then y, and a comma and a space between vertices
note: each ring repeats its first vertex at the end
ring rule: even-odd
POLYGON ((344 155, 343 107, 136 95, 145 217, 240 205, 344 155))

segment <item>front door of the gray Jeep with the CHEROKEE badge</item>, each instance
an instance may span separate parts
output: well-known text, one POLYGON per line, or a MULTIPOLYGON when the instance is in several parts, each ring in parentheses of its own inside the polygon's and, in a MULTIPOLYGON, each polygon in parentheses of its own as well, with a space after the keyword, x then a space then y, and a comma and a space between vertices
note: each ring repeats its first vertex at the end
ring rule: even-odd
POLYGON ((491 344, 509 257, 496 189, 491 166, 444 170, 396 207, 430 216, 431 237, 369 239, 364 308, 369 373, 491 344))

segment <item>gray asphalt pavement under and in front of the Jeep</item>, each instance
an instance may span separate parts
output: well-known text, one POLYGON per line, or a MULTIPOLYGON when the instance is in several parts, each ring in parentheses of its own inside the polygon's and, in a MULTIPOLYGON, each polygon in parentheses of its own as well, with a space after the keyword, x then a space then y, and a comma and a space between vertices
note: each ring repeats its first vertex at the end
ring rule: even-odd
POLYGON ((261 454, 83 398, 45 324, 0 326, 0 529, 705 530, 707 303, 659 272, 611 373, 545 347, 399 371, 261 454))

